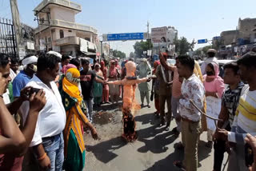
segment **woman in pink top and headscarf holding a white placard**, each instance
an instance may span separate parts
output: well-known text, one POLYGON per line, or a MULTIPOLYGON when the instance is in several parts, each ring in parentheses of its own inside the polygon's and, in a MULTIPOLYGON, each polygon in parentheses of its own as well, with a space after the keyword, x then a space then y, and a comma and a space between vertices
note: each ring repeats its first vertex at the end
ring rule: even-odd
MULTIPOLYGON (((203 85, 206 89, 206 114, 211 117, 218 118, 222 106, 222 94, 224 93, 224 82, 221 77, 218 76, 219 68, 218 64, 211 62, 206 66, 206 75, 203 76, 203 85)), ((216 129, 214 121, 210 118, 206 118, 207 121, 207 144, 206 146, 212 148, 213 135, 216 129)))

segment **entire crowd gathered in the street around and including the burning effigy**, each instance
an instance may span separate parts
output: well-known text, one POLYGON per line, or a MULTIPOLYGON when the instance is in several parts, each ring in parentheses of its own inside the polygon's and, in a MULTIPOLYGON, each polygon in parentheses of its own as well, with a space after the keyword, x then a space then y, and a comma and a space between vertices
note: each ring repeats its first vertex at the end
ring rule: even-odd
MULTIPOLYGON (((170 66, 161 53, 153 70, 146 59, 138 66, 132 58, 108 66, 54 51, 21 62, 0 54, 0 170, 82 170, 84 130, 98 139, 94 107, 123 99, 123 122, 134 121, 130 109, 137 85, 141 107, 150 108, 154 100, 159 127, 170 131, 170 122, 176 122, 171 131, 182 136, 177 148, 184 149, 184 160, 175 166, 198 169, 198 141, 206 131, 206 146, 214 146, 212 170, 222 169, 226 152, 228 170, 256 170, 256 54, 226 64, 223 78, 216 50, 207 54, 200 67, 187 55, 170 66)), ((134 129, 135 122, 132 133, 124 129, 126 138, 137 137, 134 129)))

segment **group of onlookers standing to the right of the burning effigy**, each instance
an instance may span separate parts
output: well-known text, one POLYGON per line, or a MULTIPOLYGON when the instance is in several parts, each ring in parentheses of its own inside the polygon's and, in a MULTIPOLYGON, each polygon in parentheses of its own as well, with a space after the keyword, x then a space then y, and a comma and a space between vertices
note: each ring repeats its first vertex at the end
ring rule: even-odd
POLYGON ((255 153, 256 54, 250 52, 238 61, 227 63, 223 78, 214 57, 216 50, 210 49, 207 54, 201 67, 186 55, 178 56, 175 66, 167 65, 166 53, 160 55, 160 64, 154 62, 154 93, 158 94, 154 95, 155 113, 157 116, 160 113, 159 126, 166 125, 169 130, 173 117, 177 127, 172 132, 177 137, 182 133, 177 148, 184 149, 184 160, 174 161, 174 165, 183 170, 197 170, 198 141, 201 133, 207 131, 206 147, 214 146, 212 170, 222 170, 225 152, 230 156, 227 170, 255 170, 252 150, 255 153), (170 85, 172 89, 168 89, 170 85))

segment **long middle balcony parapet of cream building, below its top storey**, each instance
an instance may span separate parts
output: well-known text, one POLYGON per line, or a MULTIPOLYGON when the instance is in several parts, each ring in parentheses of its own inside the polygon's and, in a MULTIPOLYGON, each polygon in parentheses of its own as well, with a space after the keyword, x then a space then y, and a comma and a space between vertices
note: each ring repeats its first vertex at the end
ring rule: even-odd
POLYGON ((41 25, 37 27, 34 30, 34 33, 38 34, 39 32, 46 30, 49 27, 60 27, 60 28, 65 28, 70 30, 80 30, 80 31, 86 31, 93 34, 97 34, 97 30, 94 29, 94 27, 92 26, 86 26, 86 25, 75 23, 75 22, 66 22, 64 20, 57 20, 57 19, 50 20, 50 26, 41 25))

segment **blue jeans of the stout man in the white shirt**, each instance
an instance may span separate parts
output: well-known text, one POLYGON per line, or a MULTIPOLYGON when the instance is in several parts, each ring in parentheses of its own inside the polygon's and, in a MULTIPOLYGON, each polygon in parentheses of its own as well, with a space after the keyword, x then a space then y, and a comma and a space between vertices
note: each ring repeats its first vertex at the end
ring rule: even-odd
POLYGON ((64 140, 60 133, 53 137, 42 138, 42 145, 50 158, 51 168, 49 171, 62 171, 64 161, 64 140))

